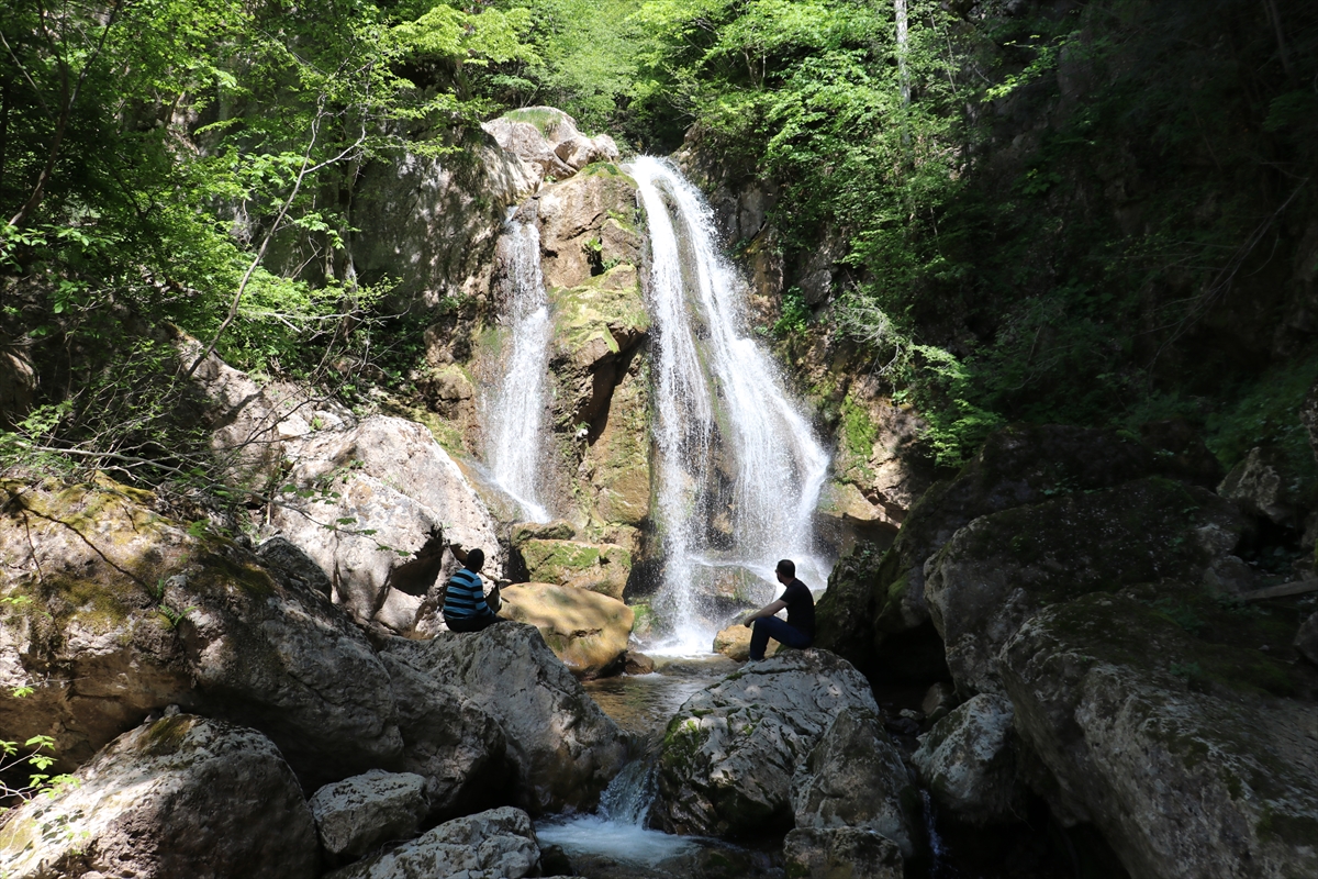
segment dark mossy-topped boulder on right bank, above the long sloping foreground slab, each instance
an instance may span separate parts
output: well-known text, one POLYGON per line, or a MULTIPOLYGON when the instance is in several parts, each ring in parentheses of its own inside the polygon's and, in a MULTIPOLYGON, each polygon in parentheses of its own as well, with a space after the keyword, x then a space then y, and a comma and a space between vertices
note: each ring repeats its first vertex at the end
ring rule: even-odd
POLYGON ((1197 582, 1243 530, 1231 503, 1161 477, 975 519, 924 584, 958 689, 1000 692, 998 651, 1040 608, 1166 577, 1197 582))

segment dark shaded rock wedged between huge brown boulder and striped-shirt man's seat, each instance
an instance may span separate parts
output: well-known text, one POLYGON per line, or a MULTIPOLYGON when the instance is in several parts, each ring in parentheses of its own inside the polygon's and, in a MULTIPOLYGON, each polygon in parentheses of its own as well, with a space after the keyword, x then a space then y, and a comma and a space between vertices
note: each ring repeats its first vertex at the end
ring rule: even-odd
POLYGON ((401 768, 426 780, 430 818, 449 818, 500 805, 507 780, 507 739, 498 721, 444 679, 419 671, 391 652, 389 669, 401 768))

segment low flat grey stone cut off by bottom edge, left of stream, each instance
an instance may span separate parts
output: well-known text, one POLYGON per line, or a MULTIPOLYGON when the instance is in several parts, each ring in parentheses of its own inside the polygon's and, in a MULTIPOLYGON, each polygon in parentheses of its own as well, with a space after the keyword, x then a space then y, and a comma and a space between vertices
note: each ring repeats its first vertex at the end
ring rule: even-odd
POLYGON ((502 807, 442 824, 326 879, 522 879, 539 859, 530 816, 502 807))

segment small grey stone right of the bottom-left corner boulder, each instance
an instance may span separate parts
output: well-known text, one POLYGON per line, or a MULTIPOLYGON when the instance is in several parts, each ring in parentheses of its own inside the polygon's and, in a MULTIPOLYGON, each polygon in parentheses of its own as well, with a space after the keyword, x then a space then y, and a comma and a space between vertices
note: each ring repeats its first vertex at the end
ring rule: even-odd
POLYGON ((327 784, 308 803, 320 845, 333 855, 360 858, 387 839, 410 839, 430 812, 426 779, 370 770, 327 784))

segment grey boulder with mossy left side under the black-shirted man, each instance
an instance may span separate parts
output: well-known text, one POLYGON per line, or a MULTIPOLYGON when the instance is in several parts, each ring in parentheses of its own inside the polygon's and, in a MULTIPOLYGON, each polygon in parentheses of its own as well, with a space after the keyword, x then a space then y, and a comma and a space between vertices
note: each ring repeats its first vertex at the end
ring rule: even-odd
POLYGON ((788 651, 696 693, 664 733, 655 820, 713 836, 789 828, 792 776, 847 708, 878 713, 861 673, 822 650, 788 651))

